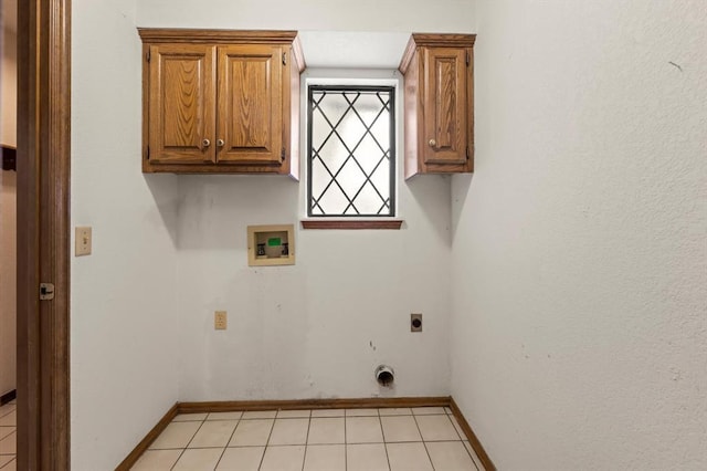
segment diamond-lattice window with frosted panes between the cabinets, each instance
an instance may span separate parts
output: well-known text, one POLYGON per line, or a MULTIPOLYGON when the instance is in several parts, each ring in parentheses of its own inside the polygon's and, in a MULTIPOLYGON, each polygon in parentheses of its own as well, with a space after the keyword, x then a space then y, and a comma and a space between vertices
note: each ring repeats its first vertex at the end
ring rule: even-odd
POLYGON ((308 87, 307 216, 395 216, 395 88, 308 87))

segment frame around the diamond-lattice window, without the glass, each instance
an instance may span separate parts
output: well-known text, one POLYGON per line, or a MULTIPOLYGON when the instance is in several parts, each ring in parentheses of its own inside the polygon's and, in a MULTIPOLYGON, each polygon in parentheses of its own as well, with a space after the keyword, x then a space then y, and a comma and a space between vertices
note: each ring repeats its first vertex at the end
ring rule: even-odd
MULTIPOLYGON (((388 80, 372 80, 367 81, 368 84, 360 83, 360 80, 351 80, 350 83, 341 83, 340 80, 317 80, 316 82, 310 83, 307 81, 305 83, 305 97, 307 100, 307 119, 306 119, 306 149, 305 149, 305 158, 306 158, 306 195, 305 195, 305 205, 306 205, 306 217, 312 221, 328 221, 334 219, 344 219, 346 221, 381 221, 381 220, 391 220, 397 219, 399 217, 398 209, 398 185, 399 185, 399 166, 398 166, 398 132, 397 128, 397 115, 399 109, 397 107, 397 94, 398 94, 398 84, 391 83, 388 80), (389 115, 390 115, 390 158, 389 158, 389 200, 390 200, 390 213, 386 214, 341 214, 341 213, 333 213, 333 214, 314 214, 313 206, 312 206, 312 189, 313 189, 313 178, 312 178, 312 167, 313 167, 313 94, 315 91, 335 91, 335 92, 388 92, 390 102, 389 102, 389 115)), ((356 157, 352 157, 356 158, 356 157)), ((348 196, 347 196, 348 198, 348 196)), ((304 221, 303 221, 304 224, 304 221)))

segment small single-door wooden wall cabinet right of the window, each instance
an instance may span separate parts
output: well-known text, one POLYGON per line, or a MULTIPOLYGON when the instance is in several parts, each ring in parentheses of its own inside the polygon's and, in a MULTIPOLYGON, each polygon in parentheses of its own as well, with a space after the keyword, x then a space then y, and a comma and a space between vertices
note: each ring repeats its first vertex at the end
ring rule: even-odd
POLYGON ((474 170, 475 34, 412 34, 404 75, 405 178, 474 170))

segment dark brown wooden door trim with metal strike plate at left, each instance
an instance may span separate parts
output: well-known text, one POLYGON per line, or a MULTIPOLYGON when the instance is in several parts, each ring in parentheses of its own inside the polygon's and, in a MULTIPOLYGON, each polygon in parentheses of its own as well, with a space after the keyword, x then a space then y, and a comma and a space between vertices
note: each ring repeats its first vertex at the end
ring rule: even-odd
POLYGON ((71 0, 18 4, 18 469, 70 469, 71 0), (39 284, 55 297, 39 300, 39 284))

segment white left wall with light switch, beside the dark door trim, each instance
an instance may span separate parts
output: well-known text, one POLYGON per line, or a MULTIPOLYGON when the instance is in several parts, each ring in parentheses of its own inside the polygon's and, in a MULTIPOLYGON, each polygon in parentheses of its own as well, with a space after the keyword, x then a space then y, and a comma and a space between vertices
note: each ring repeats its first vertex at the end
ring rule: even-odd
POLYGON ((72 470, 108 470, 177 401, 177 178, 140 169, 135 1, 72 6, 72 470))

